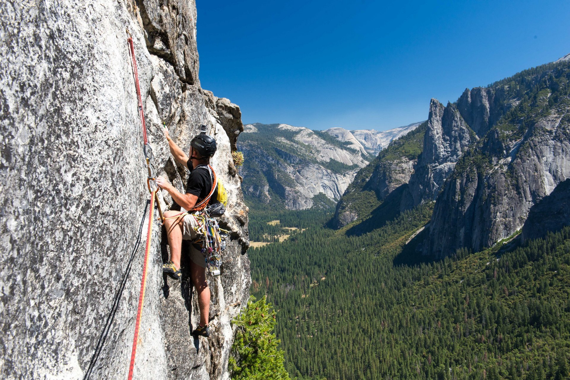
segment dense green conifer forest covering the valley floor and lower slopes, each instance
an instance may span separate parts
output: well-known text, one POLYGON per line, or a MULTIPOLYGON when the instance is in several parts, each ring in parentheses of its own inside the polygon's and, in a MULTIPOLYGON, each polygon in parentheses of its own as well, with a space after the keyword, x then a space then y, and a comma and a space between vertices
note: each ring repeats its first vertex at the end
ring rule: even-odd
POLYGON ((569 377, 570 228, 430 261, 414 253, 421 233, 406 242, 432 208, 359 233, 327 228, 331 209, 252 207, 252 240, 290 234, 248 253, 251 294, 278 310, 291 377, 569 377))

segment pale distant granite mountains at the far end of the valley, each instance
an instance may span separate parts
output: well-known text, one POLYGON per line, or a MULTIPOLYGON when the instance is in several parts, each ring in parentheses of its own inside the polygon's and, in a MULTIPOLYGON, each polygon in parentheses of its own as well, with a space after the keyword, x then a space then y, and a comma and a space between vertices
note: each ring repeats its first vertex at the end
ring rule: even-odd
POLYGON ((337 127, 312 131, 287 124, 246 125, 238 143, 245 156, 243 191, 251 201, 276 201, 287 209, 311 208, 321 195, 336 202, 356 172, 374 158, 371 153, 418 125, 365 134, 337 127))

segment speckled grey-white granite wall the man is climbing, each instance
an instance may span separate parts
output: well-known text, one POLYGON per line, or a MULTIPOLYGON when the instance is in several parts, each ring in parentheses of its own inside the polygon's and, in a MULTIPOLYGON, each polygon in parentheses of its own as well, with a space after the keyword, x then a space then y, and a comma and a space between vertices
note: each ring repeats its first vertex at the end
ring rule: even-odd
MULTIPOLYGON (((188 276, 162 276, 155 224, 135 378, 227 379, 230 321, 249 296, 247 208, 231 148, 238 106, 200 88, 194 1, 3 2, 0 52, 2 378, 124 378, 128 373, 149 192, 128 28, 135 41, 155 175, 188 175, 162 134, 188 150, 197 126, 218 142, 229 190, 223 274, 210 278, 210 338, 190 338, 188 276)), ((163 209, 173 206, 161 192, 163 209)), ((184 265, 184 264, 183 264, 184 265)))

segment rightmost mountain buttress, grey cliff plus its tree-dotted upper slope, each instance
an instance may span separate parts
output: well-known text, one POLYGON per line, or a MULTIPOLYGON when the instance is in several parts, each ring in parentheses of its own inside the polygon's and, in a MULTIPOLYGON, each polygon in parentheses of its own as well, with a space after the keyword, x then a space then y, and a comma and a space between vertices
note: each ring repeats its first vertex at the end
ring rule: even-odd
POLYGON ((532 89, 531 96, 458 163, 437 198, 425 254, 442 257, 459 247, 480 250, 523 225, 525 236, 531 235, 533 228, 526 224, 530 210, 540 214, 548 209, 548 201, 546 207, 539 206, 541 200, 570 177, 570 109, 564 80, 569 71, 568 64, 561 63, 539 72, 538 90, 532 89))

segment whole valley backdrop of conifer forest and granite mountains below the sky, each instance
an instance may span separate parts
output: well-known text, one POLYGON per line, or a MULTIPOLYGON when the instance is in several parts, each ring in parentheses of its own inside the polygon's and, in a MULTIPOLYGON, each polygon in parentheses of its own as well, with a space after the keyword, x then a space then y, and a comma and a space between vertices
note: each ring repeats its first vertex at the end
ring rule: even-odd
POLYGON ((289 235, 249 255, 292 376, 570 376, 569 80, 560 60, 432 100, 376 156, 283 125, 240 137, 250 239, 289 235), (316 191, 310 166, 352 179, 316 191))

